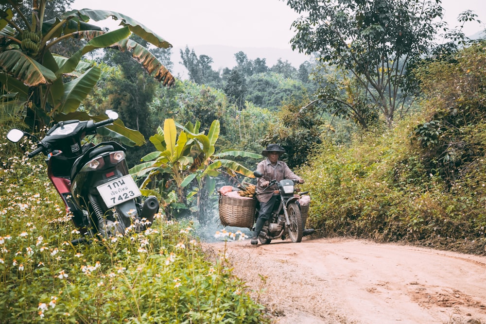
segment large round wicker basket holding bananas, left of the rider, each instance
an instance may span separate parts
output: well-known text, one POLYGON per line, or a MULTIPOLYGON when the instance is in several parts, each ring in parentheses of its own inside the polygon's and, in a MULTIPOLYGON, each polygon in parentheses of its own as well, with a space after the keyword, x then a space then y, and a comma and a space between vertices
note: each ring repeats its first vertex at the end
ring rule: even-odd
POLYGON ((223 226, 250 228, 255 222, 255 199, 219 196, 219 219, 223 226))

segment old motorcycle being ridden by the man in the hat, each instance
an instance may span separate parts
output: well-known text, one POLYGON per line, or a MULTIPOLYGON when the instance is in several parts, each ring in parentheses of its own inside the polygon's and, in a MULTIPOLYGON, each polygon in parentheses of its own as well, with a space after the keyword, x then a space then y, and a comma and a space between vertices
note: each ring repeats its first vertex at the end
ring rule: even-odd
MULTIPOLYGON (((257 178, 263 177, 270 181, 270 179, 258 171, 254 171, 253 175, 257 178)), ((271 180, 263 192, 275 185, 278 187, 278 190, 274 190, 274 195, 278 195, 277 202, 274 205, 269 220, 263 224, 258 240, 261 244, 269 244, 272 239, 285 239, 285 236, 288 234, 292 242, 298 243, 302 240, 304 223, 297 201, 300 195, 305 195, 308 191, 300 192, 300 195, 297 195, 295 194, 295 181, 283 179, 279 182, 277 180, 271 180)), ((257 207, 255 222, 258 214, 259 208, 257 207)))

